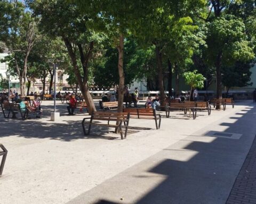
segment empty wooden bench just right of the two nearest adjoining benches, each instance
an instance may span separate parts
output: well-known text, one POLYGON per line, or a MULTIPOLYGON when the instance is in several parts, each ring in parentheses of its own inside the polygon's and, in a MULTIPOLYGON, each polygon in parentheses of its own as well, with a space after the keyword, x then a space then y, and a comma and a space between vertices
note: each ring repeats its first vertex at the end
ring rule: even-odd
POLYGON ((170 103, 170 106, 166 106, 166 117, 170 117, 171 110, 181 110, 184 114, 187 114, 187 110, 190 109, 193 113, 193 119, 196 119, 196 103, 194 101, 185 101, 185 103, 170 103))

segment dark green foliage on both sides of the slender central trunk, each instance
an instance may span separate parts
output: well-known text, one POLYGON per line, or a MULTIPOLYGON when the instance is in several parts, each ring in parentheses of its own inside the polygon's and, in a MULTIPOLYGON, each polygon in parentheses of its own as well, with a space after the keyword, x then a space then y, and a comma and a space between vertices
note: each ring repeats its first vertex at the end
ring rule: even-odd
MULTIPOLYGON (((124 47, 125 85, 130 85, 135 80, 143 80, 156 74, 155 70, 148 70, 148 64, 151 58, 155 56, 153 49, 139 47, 131 36, 126 39, 124 47)), ((98 87, 116 86, 119 82, 117 63, 117 50, 107 47, 105 54, 92 64, 94 84, 98 87)))

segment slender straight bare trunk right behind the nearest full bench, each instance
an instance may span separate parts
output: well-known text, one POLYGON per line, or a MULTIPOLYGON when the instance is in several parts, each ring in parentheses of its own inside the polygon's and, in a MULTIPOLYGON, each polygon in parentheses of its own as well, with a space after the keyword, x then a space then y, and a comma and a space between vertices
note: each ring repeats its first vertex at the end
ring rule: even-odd
POLYGON ((118 50, 118 74, 119 74, 119 84, 118 84, 118 108, 117 112, 123 112, 123 101, 124 101, 124 36, 122 33, 119 35, 119 45, 118 50))

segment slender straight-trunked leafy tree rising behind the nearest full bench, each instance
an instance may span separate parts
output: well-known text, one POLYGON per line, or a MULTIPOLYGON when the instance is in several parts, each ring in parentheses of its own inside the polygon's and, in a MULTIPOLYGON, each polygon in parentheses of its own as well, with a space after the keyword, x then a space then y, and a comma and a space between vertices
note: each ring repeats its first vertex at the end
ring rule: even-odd
MULTIPOLYGON (((77 0, 82 13, 86 13, 88 2, 77 0)), ((146 3, 146 1, 144 2, 146 3)), ((124 72, 124 40, 129 33, 132 24, 137 21, 143 13, 145 4, 138 1, 106 0, 93 1, 94 11, 99 16, 100 21, 97 27, 105 32, 112 45, 118 50, 118 112, 123 110, 123 98, 125 92, 125 72, 124 72)))

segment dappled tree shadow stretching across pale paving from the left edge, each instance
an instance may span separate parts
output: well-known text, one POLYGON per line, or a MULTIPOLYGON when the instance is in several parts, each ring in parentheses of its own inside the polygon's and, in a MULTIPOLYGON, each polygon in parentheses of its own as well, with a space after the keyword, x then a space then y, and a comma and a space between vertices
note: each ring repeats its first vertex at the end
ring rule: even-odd
MULTIPOLYGON (((72 141, 77 139, 121 139, 120 134, 114 133, 114 128, 92 126, 90 135, 84 135, 81 121, 65 121, 55 123, 42 120, 13 120, 0 118, 1 137, 18 135, 24 138, 49 138, 54 140, 72 141)), ((86 125, 86 128, 88 125, 86 125)), ((134 133, 128 131, 127 135, 134 133)))

